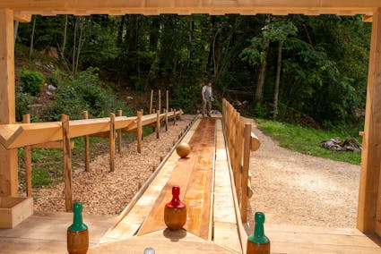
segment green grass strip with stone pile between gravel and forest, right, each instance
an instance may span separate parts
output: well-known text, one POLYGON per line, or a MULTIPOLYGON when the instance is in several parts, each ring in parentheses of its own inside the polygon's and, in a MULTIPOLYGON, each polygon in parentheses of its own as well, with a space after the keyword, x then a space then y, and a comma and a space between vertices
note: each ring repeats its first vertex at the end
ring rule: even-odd
MULTIPOLYGON (((320 147, 320 142, 339 137, 341 140, 350 138, 342 133, 333 131, 320 131, 292 125, 260 119, 257 121, 258 129, 269 135, 273 140, 279 141, 282 148, 298 151, 314 157, 325 157, 336 161, 343 161, 354 165, 361 162, 361 154, 353 152, 338 152, 320 147)), ((359 139, 357 139, 359 140, 359 139)))

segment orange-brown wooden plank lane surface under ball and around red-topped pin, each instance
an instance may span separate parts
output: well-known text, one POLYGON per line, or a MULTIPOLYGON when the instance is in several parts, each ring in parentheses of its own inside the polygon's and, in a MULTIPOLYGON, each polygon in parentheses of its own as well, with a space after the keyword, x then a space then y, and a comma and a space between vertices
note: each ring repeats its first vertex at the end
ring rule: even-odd
POLYGON ((184 228, 208 240, 211 224, 212 163, 214 157, 215 120, 203 118, 189 140, 191 152, 178 160, 169 181, 152 205, 137 235, 166 228, 164 206, 172 199, 172 186, 180 186, 180 199, 186 203, 187 221, 184 228))

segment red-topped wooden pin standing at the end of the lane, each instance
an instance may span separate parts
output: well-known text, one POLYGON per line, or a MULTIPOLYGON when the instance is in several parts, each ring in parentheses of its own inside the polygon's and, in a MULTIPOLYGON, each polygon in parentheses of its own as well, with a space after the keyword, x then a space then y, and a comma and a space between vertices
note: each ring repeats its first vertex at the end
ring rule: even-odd
POLYGON ((164 222, 169 229, 180 229, 186 224, 186 204, 181 202, 180 187, 175 185, 172 187, 172 200, 165 205, 164 222))

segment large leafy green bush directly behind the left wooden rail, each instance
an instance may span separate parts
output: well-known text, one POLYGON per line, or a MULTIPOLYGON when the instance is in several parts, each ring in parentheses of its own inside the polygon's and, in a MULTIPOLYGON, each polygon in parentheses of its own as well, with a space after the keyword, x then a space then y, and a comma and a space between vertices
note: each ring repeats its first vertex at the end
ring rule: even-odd
POLYGON ((81 119, 82 111, 88 110, 89 117, 106 117, 122 109, 130 114, 130 109, 117 99, 113 91, 103 88, 96 68, 59 84, 51 108, 45 113, 48 121, 59 120, 60 114, 68 114, 70 119, 81 119))

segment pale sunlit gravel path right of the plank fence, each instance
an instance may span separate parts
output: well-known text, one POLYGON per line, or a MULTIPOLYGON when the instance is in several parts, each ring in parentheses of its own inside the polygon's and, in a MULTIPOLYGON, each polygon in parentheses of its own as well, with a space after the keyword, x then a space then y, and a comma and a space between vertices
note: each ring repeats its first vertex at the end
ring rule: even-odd
POLYGON ((359 165, 302 155, 254 132, 261 148, 250 159, 250 223, 262 211, 268 224, 356 226, 359 165))

